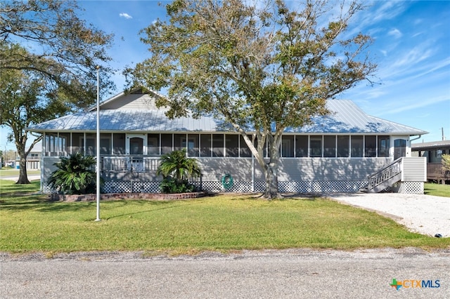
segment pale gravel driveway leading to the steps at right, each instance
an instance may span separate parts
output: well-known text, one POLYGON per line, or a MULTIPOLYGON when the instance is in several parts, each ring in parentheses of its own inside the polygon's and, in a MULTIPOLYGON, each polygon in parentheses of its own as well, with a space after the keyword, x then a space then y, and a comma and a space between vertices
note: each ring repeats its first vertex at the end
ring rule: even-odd
POLYGON ((425 194, 339 193, 326 197, 375 211, 420 234, 450 237, 450 198, 425 194))

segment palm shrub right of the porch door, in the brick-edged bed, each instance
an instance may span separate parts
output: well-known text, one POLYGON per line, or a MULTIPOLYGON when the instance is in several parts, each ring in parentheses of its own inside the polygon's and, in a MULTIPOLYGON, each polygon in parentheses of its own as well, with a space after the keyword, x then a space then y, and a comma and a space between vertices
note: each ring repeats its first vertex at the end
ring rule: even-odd
POLYGON ((195 186, 189 183, 188 179, 198 178, 201 175, 197 160, 186 157, 186 150, 176 150, 162 155, 156 173, 163 178, 160 185, 162 193, 193 192, 195 186))

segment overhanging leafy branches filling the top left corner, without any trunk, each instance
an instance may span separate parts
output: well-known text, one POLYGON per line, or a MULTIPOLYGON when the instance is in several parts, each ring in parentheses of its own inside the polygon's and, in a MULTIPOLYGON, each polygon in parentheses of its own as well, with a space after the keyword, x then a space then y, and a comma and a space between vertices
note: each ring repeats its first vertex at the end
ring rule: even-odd
POLYGON ((106 54, 113 35, 79 18, 73 0, 1 1, 1 68, 27 70, 46 80, 48 94, 63 95, 70 109, 91 105, 96 98, 96 67, 102 90, 113 88, 106 54), (24 48, 27 45, 27 48, 24 48))

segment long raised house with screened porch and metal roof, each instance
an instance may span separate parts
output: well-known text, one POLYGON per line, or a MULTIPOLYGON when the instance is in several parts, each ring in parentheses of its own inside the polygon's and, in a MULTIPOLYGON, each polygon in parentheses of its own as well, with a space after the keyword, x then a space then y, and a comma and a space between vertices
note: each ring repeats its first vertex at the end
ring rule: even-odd
MULTIPOLYGON (((264 191, 259 164, 231 126, 213 117, 168 119, 165 109, 155 107, 156 97, 135 88, 101 103, 104 192, 159 192, 161 178, 155 171, 160 156, 182 148, 198 159, 203 177, 195 183, 203 190, 224 190, 221 180, 229 173, 233 186, 227 191, 264 191)), ((279 191, 356 192, 368 187, 378 192, 396 183, 398 192, 423 193, 425 159, 411 157, 410 138, 427 132, 371 117, 349 100, 329 100, 327 105, 333 114, 283 133, 279 191), (401 157, 406 158, 391 165, 401 157)), ((96 155, 96 107, 28 130, 44 134, 44 192, 51 191, 46 182, 59 157, 96 155)))

